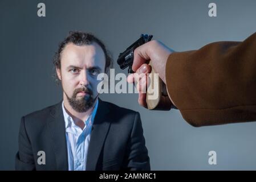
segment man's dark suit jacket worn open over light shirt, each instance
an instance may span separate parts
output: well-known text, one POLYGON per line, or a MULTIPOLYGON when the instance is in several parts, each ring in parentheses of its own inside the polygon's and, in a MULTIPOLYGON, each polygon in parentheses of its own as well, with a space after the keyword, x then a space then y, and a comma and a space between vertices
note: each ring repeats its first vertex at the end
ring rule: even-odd
MULTIPOLYGON (((62 102, 22 117, 16 169, 68 170, 65 132, 62 102), (46 164, 38 164, 38 151, 46 164)), ((139 113, 99 100, 86 169, 150 169, 139 113)))

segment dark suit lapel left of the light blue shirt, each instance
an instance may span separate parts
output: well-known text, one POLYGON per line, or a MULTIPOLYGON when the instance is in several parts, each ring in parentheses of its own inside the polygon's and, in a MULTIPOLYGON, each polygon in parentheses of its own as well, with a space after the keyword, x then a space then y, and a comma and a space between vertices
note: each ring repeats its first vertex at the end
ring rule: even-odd
POLYGON ((55 152, 57 169, 66 171, 68 170, 68 158, 62 102, 52 108, 50 114, 53 118, 48 123, 48 130, 51 133, 51 146, 55 152))

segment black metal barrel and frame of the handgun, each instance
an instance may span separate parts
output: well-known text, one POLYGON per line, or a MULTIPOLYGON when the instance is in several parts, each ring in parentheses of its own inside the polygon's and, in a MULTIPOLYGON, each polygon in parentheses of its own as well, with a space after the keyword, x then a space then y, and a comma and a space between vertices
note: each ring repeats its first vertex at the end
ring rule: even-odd
POLYGON ((147 34, 141 34, 140 38, 136 40, 135 43, 133 43, 131 46, 129 46, 124 52, 119 54, 119 57, 117 59, 117 64, 119 64, 121 69, 128 68, 128 73, 133 73, 132 71, 132 64, 133 64, 133 52, 134 50, 151 41, 153 35, 147 35, 147 34))

